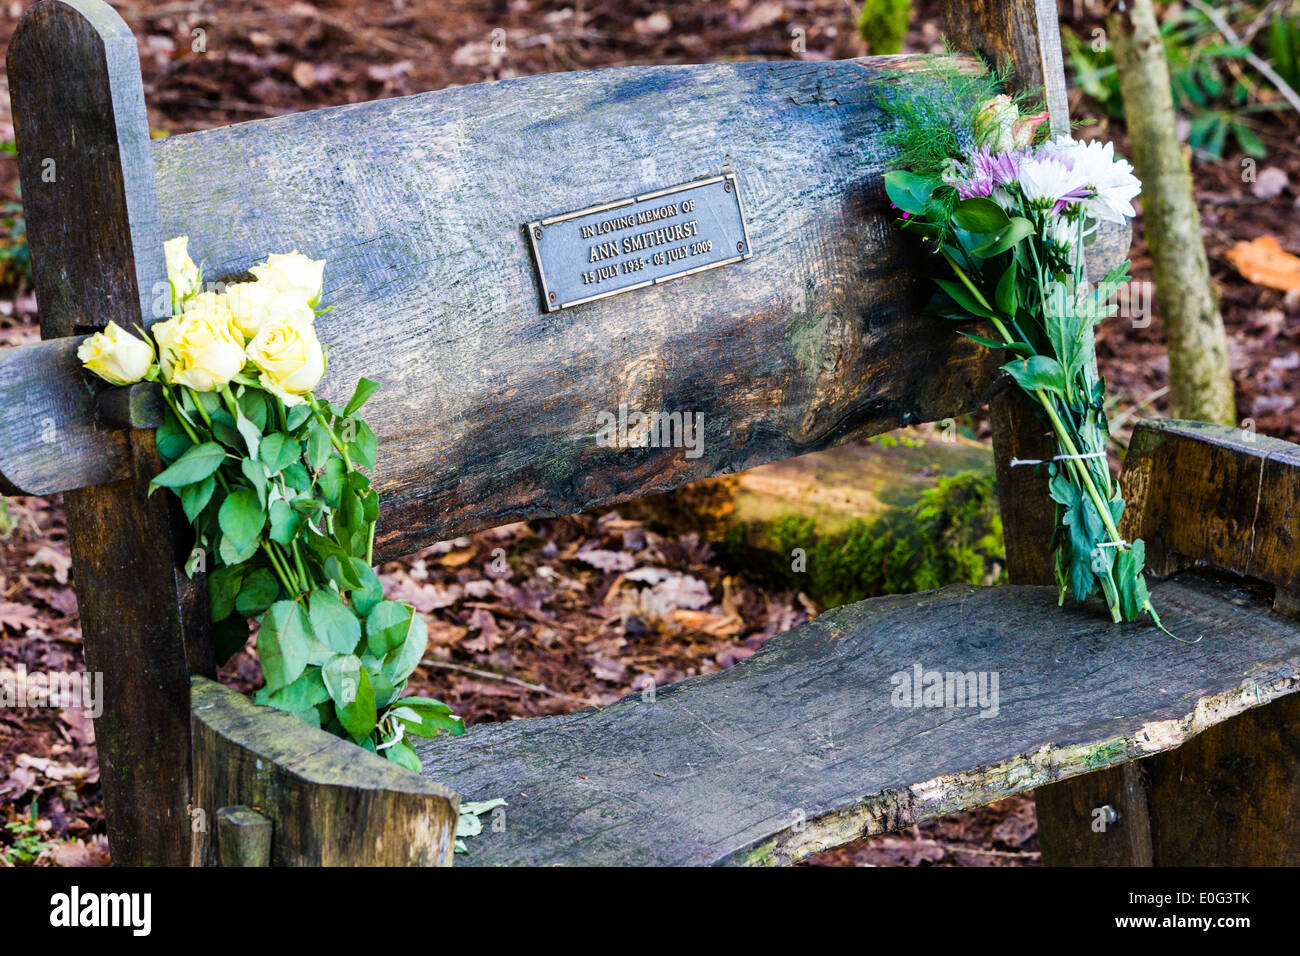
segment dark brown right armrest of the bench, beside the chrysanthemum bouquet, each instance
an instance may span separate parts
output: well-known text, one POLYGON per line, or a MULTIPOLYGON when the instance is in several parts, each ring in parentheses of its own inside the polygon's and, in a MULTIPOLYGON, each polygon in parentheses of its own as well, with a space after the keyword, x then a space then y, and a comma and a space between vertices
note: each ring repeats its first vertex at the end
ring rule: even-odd
POLYGON ((1300 445, 1227 425, 1148 420, 1121 477, 1121 525, 1157 574, 1206 563, 1300 600, 1300 445))

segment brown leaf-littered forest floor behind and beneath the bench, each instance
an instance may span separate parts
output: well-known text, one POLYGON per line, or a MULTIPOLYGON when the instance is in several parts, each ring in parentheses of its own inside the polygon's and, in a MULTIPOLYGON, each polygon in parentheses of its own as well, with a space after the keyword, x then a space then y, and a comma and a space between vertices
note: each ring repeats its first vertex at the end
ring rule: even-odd
MULTIPOLYGON (((866 53, 844 0, 178 0, 113 4, 139 38, 150 121, 160 131, 242 122, 347 101, 533 73, 724 59, 837 59, 866 53), (196 33, 198 31, 198 33, 196 33), (504 31, 504 33, 499 33, 504 31), (503 40, 503 42, 502 42, 503 40), (796 47, 801 47, 796 49, 796 47), (202 51, 199 49, 202 47, 202 51)), ((0 10, 8 43, 22 8, 0 10)), ((939 51, 932 3, 918 3, 907 48, 939 51)), ((1070 5, 1066 5, 1069 8, 1070 5)), ((1069 21, 1067 21, 1069 22, 1069 21)), ((1091 22, 1074 25, 1087 34, 1091 22)), ((13 140, 0 91, 0 142, 13 140)), ((1087 118, 1075 95, 1071 112, 1087 118)), ((1300 440, 1300 294, 1243 280, 1226 258, 1275 235, 1300 252, 1300 150, 1291 114, 1258 125, 1271 189, 1243 182, 1242 156, 1197 161, 1193 177, 1232 349, 1238 414, 1300 440)), ((1095 121, 1079 135, 1114 138, 1095 121)), ((36 303, 12 237, 17 170, 0 156, 0 346, 38 337, 36 303)), ((1150 278, 1136 221, 1134 273, 1150 278)), ((1169 363, 1157 313, 1147 328, 1102 325, 1098 360, 1113 420, 1167 414, 1169 363)), ((978 425, 980 427, 980 425, 978 425)), ((1119 431, 1123 431, 1122 428, 1119 431)), ((724 567, 697 533, 656 533, 616 512, 530 522, 442 542, 381 568, 389 596, 430 626, 417 689, 469 723, 607 704, 641 675, 658 684, 741 661, 818 609, 724 567), (511 563, 493 571, 493 550, 511 563), (649 579, 658 581, 642 588, 649 579), (653 594, 651 594, 653 592, 653 594)), ((83 669, 77 600, 58 498, 0 499, 0 675, 83 669)), ((129 596, 124 596, 130 600, 129 596)), ((222 679, 260 683, 250 649, 222 679)), ((94 732, 77 710, 0 710, 0 865, 108 861, 94 732), (34 832, 26 821, 38 809, 34 832), (3 826, 8 823, 8 830, 3 826), (20 845, 25 848, 20 852, 20 845)), ((1032 795, 826 853, 816 865, 1036 865, 1032 795)))

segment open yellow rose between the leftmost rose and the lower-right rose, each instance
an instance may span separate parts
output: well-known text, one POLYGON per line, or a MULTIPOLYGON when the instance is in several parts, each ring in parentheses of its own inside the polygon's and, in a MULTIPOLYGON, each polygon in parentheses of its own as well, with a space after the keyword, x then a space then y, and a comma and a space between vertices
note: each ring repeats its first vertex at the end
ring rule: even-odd
POLYGON ((152 326, 162 377, 195 392, 214 392, 244 367, 243 338, 216 293, 196 295, 185 312, 152 326))

